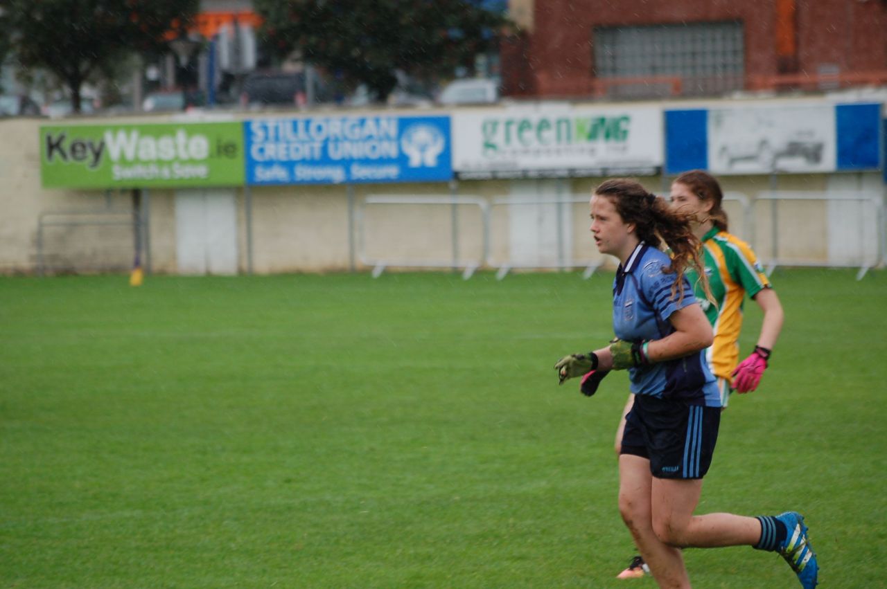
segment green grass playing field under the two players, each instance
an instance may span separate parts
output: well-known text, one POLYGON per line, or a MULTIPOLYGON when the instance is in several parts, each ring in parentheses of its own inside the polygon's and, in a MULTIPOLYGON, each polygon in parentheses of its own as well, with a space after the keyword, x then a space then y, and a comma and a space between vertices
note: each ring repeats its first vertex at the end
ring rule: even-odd
MULTIPOLYGON (((825 587, 887 586, 887 273, 785 270, 700 512, 802 511, 825 587)), ((0 279, 0 587, 653 587, 616 508, 612 275, 0 279)), ((760 313, 747 307, 743 353, 760 313)), ((695 587, 796 587, 688 550, 695 587)))

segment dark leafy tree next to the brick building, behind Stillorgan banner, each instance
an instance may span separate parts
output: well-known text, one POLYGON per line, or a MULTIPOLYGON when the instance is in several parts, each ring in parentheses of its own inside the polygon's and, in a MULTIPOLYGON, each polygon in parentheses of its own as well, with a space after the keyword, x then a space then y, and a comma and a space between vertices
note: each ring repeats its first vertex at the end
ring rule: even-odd
POLYGON ((380 100, 396 87, 396 70, 420 79, 471 69, 491 50, 507 21, 482 0, 255 0, 260 36, 278 55, 363 82, 380 100))

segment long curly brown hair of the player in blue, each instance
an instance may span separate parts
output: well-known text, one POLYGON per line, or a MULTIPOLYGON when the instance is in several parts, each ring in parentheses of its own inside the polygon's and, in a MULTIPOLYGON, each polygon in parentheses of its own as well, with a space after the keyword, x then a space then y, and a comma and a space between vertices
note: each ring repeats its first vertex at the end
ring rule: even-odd
POLYGON ((648 245, 662 249, 662 244, 671 250, 671 266, 666 272, 674 272, 677 277, 671 285, 671 297, 684 298, 684 290, 679 288, 687 267, 693 267, 702 283, 705 297, 714 302, 705 263, 702 257, 702 244, 690 227, 693 216, 679 213, 663 198, 647 191, 640 182, 628 178, 613 178, 594 189, 593 194, 606 197, 616 206, 616 213, 624 223, 633 223, 638 238, 648 245))

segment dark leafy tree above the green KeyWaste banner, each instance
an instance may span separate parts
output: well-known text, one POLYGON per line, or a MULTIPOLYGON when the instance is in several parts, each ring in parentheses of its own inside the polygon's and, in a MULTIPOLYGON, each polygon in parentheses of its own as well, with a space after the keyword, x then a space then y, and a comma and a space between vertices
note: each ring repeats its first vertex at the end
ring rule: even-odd
POLYGON ((191 24, 199 0, 0 0, 0 37, 23 67, 43 67, 71 91, 132 52, 166 49, 191 24))

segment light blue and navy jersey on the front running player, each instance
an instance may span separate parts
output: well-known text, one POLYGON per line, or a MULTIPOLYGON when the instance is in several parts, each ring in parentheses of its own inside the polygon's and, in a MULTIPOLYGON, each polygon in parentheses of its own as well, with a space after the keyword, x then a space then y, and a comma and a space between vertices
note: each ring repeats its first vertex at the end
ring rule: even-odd
MULTIPOLYGON (((674 332, 668 321, 675 311, 695 305, 693 289, 685 277, 679 293, 671 296, 676 275, 665 270, 671 259, 641 242, 613 281, 613 331, 630 342, 662 339, 674 332)), ((720 407, 718 384, 705 361, 705 351, 683 358, 629 368, 631 391, 659 399, 681 400, 688 405, 720 407)))

